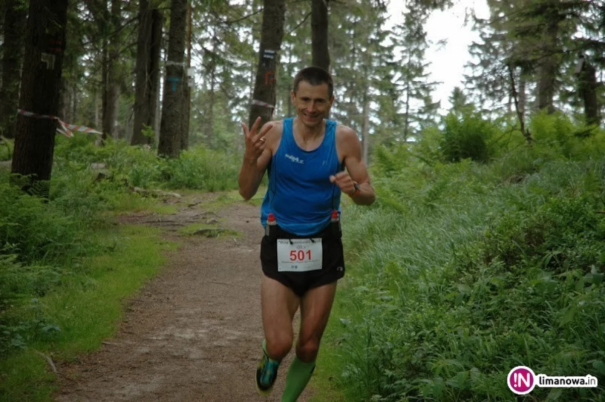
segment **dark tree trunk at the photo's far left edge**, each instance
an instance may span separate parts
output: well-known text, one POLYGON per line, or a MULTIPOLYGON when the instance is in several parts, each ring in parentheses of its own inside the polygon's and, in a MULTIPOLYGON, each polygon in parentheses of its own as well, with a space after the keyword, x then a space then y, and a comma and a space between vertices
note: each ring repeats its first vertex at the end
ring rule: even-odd
POLYGON ((27 13, 19 0, 8 0, 2 43, 2 87, 0 87, 0 134, 15 138, 15 116, 19 102, 19 78, 27 13))

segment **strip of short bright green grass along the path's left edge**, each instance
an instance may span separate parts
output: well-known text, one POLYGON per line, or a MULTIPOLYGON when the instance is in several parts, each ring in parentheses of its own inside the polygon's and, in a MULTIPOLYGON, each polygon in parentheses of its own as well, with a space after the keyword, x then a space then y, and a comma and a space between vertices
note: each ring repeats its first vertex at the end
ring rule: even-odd
POLYGON ((17 323, 13 341, 23 344, 0 360, 0 400, 50 400, 56 384, 44 355, 71 360, 99 348, 116 331, 123 300, 159 271, 163 252, 174 249, 154 228, 124 226, 96 236, 112 249, 79 260, 62 272, 60 287, 5 312, 4 321, 17 323))

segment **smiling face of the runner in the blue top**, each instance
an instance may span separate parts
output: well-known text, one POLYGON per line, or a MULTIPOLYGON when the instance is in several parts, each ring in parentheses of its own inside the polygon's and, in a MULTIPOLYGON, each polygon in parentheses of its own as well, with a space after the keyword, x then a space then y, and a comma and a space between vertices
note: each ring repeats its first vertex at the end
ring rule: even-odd
POLYGON ((307 81, 298 84, 298 91, 290 93, 292 104, 302 124, 316 127, 332 107, 334 97, 329 97, 328 84, 311 85, 307 81))

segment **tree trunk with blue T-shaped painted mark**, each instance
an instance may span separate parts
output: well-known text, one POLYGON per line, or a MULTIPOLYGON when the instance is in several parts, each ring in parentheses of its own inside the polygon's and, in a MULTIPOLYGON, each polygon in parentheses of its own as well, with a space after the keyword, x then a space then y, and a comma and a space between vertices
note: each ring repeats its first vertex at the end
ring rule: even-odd
POLYGON ((187 27, 187 0, 172 0, 170 31, 168 34, 168 61, 164 77, 162 122, 157 153, 178 157, 181 151, 181 120, 183 119, 183 87, 185 83, 185 32, 187 27))

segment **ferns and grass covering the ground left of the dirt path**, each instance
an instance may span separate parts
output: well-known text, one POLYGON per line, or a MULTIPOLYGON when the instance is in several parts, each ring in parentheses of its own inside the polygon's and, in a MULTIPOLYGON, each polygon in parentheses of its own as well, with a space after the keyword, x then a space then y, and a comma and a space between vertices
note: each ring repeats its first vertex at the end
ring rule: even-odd
POLYGON ((50 400, 45 356, 70 360, 113 334, 123 300, 174 248, 156 229, 119 225, 136 211, 176 209, 73 163, 54 166, 48 199, 0 171, 0 400, 50 400))

